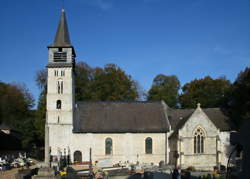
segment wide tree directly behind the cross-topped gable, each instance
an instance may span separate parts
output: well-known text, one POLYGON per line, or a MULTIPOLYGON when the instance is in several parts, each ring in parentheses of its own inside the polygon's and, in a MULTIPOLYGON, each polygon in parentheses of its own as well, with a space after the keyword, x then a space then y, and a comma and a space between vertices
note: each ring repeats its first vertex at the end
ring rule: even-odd
POLYGON ((212 79, 206 76, 195 79, 182 87, 180 104, 182 108, 195 108, 201 103, 204 108, 219 107, 230 90, 231 83, 225 77, 212 79))

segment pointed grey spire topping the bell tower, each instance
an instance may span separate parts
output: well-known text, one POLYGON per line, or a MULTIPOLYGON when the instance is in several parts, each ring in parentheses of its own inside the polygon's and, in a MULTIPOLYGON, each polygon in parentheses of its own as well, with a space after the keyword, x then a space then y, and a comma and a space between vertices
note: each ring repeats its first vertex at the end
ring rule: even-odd
POLYGON ((56 37, 52 46, 56 47, 71 46, 64 9, 62 9, 60 23, 57 27, 56 37))

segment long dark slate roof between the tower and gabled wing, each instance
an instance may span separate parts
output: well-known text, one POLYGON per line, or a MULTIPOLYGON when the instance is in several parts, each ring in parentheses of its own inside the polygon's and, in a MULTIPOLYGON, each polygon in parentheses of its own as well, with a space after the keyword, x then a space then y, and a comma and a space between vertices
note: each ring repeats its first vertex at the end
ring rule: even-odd
POLYGON ((162 133, 169 131, 162 102, 78 102, 75 133, 162 133))

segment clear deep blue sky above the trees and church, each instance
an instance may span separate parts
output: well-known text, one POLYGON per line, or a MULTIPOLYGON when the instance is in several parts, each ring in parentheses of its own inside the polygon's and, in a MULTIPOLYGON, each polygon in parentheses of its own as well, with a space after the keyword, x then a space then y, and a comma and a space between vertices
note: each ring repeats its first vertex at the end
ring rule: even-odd
MULTIPOLYGON (((0 5, 0 81, 24 82, 47 64, 61 0, 0 5)), ((234 81, 250 66, 250 0, 64 0, 77 61, 115 63, 148 90, 157 74, 181 84, 210 75, 234 81)))

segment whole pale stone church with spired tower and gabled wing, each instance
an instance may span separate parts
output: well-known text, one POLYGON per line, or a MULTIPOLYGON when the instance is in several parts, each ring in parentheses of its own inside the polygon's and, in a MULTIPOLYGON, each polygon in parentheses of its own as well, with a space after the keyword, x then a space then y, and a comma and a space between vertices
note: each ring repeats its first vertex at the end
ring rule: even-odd
POLYGON ((212 169, 226 165, 230 126, 220 109, 171 109, 163 101, 75 101, 75 57, 65 12, 48 46, 47 119, 52 157, 212 169))

